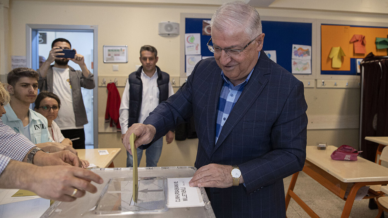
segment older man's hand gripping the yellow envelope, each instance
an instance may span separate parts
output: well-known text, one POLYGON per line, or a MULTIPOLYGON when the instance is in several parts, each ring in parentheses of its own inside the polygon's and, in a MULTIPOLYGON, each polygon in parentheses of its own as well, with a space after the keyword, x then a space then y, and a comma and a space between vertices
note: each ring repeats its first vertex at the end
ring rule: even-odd
POLYGON ((135 148, 138 148, 140 145, 149 144, 156 134, 156 128, 152 125, 145 125, 142 123, 134 123, 126 131, 123 144, 126 150, 132 154, 131 145, 129 144, 129 137, 132 133, 135 133, 137 139, 135 140, 135 148))

